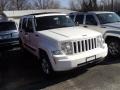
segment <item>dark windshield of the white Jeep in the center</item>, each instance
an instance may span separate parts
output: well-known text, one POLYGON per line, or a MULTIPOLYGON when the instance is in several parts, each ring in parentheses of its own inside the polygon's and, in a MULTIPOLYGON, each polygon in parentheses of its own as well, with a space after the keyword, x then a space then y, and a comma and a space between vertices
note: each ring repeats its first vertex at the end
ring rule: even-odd
POLYGON ((36 18, 36 30, 48 30, 63 27, 72 27, 75 23, 70 19, 69 16, 46 16, 36 18))

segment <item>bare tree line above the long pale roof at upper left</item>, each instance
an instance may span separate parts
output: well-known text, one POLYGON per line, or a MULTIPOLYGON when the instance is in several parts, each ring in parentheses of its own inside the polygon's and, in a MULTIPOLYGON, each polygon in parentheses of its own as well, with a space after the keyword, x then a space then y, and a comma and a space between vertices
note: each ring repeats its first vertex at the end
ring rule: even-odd
POLYGON ((58 0, 0 0, 0 11, 60 8, 58 0))

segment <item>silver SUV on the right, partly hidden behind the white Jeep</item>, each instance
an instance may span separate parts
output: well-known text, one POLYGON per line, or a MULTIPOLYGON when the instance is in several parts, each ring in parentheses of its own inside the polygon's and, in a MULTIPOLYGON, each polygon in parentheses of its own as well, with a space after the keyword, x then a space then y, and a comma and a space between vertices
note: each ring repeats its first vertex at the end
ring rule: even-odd
POLYGON ((114 12, 75 12, 69 16, 80 26, 101 32, 109 56, 120 56, 120 17, 114 12))

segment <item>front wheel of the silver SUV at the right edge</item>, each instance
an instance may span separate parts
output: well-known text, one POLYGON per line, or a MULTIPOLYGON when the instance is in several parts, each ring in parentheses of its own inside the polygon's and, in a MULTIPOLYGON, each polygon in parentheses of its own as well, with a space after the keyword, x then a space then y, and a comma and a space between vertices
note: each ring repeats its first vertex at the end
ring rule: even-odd
POLYGON ((118 39, 109 39, 107 40, 108 44, 108 56, 118 57, 120 56, 120 40, 118 39))

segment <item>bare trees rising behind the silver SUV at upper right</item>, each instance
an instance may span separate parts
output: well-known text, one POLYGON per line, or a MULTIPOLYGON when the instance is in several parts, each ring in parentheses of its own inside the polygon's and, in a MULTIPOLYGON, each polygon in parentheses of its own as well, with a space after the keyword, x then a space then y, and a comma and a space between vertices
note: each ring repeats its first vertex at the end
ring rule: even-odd
POLYGON ((120 0, 70 0, 70 9, 78 11, 119 11, 120 0))

